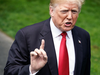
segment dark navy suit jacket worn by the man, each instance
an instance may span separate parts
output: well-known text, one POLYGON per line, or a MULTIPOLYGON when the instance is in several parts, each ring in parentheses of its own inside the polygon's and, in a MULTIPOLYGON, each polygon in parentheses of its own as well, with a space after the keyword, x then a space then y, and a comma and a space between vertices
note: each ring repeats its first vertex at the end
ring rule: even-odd
MULTIPOLYGON (((74 75, 90 75, 90 36, 88 32, 76 26, 72 29, 72 35, 76 60, 74 75)), ((29 75, 30 52, 40 47, 41 39, 45 40, 44 50, 48 62, 37 75, 58 75, 50 19, 18 31, 9 51, 4 75, 29 75)))

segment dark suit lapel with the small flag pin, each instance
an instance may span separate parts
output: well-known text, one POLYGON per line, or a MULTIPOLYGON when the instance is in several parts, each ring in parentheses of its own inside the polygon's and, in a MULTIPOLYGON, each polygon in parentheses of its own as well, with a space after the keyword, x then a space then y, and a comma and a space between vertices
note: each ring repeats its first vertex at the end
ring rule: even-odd
POLYGON ((76 27, 73 28, 73 40, 74 40, 74 47, 75 47, 75 71, 74 75, 80 75, 81 67, 82 67, 82 59, 83 59, 83 51, 82 51, 82 40, 78 35, 76 27))

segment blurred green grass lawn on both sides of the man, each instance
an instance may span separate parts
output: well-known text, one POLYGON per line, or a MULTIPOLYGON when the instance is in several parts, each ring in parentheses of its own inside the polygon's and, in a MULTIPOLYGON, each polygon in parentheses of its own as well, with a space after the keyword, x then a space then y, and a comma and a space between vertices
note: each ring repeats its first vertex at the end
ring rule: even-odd
MULTIPOLYGON (((49 17, 49 0, 0 0, 0 31, 13 39, 19 29, 49 17)), ((100 0, 85 1, 76 25, 90 33, 91 75, 100 75, 100 0)))

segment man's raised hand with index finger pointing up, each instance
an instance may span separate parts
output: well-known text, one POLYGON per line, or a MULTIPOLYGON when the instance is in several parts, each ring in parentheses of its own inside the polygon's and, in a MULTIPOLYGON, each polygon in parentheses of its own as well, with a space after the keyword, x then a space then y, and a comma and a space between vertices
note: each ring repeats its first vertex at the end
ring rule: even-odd
POLYGON ((42 39, 40 49, 30 52, 30 70, 32 73, 39 71, 48 61, 46 52, 44 51, 45 41, 42 39))

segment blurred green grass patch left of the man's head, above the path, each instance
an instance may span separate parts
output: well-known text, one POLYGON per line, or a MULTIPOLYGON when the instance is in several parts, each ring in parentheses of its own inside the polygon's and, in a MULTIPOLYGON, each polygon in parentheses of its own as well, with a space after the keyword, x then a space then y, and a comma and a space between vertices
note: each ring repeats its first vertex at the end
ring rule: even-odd
POLYGON ((14 38, 19 29, 49 18, 48 5, 44 0, 7 1, 0 5, 0 29, 14 38))

